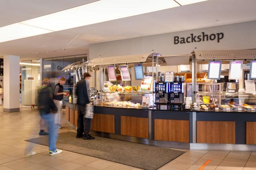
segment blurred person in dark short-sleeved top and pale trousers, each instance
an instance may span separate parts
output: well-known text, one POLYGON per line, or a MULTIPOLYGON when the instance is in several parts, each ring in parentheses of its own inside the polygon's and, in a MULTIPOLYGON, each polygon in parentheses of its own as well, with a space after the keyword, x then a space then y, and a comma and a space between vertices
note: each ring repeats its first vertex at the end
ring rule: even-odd
POLYGON ((66 79, 61 77, 59 79, 59 83, 54 87, 53 93, 53 101, 58 109, 57 113, 55 113, 54 123, 57 125, 57 128, 61 129, 61 117, 62 117, 62 100, 63 95, 67 96, 67 93, 63 92, 63 85, 66 83, 66 79))

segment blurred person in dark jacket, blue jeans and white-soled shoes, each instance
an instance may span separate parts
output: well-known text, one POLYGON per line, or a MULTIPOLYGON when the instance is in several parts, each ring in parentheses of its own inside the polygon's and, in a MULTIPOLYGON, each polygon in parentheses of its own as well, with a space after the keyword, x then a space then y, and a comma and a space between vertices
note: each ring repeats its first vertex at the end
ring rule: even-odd
POLYGON ((56 113, 57 107, 52 99, 52 89, 48 87, 50 79, 45 78, 43 80, 43 86, 38 90, 38 109, 42 119, 45 120, 49 131, 49 155, 56 155, 62 153, 62 150, 57 150, 56 141, 58 138, 58 130, 54 123, 54 113, 56 113))

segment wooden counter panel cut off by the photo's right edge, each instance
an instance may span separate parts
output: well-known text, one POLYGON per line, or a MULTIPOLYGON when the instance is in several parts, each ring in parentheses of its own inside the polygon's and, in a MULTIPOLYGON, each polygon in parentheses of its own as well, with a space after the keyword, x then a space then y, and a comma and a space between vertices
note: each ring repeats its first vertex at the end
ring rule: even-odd
POLYGON ((256 144, 256 122, 246 122, 246 144, 256 144))

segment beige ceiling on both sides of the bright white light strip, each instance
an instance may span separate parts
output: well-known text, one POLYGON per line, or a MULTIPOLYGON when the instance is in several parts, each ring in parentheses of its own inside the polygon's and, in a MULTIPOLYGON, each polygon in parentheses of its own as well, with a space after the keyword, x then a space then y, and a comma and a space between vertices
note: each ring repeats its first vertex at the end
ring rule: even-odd
MULTIPOLYGON (((1 0, 0 26, 89 2, 93 2, 93 0, 1 0)), ((27 60, 85 54, 89 52, 89 44, 93 43, 254 21, 256 20, 255 9, 256 0, 208 0, 143 15, 2 42, 0 43, 0 55, 19 55, 21 60, 27 60)))

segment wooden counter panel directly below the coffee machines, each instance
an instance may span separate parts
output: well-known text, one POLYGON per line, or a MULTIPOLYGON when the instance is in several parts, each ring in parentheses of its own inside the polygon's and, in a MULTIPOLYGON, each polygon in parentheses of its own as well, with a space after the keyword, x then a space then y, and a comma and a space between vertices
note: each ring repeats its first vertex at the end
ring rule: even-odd
POLYGON ((189 143, 189 121, 155 119, 155 140, 189 143))

